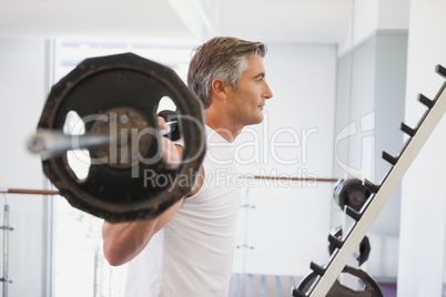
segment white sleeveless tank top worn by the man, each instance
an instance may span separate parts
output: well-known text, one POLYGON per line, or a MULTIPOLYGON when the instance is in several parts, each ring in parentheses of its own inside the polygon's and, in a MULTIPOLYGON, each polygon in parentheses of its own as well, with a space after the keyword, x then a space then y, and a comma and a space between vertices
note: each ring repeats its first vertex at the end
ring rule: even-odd
POLYGON ((241 188, 233 144, 207 126, 206 134, 204 184, 129 264, 126 297, 229 294, 241 188))

